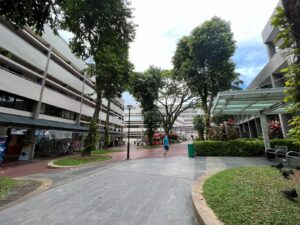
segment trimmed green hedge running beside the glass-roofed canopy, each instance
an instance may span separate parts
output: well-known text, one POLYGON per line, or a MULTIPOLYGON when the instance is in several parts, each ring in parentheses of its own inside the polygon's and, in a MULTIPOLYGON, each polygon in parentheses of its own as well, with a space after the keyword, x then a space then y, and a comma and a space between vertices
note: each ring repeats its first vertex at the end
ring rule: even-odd
MULTIPOLYGON (((299 151, 290 139, 273 139, 271 147, 275 145, 288 146, 289 151, 299 151)), ((195 141, 197 156, 263 156, 265 153, 264 142, 259 139, 237 139, 231 141, 195 141)))

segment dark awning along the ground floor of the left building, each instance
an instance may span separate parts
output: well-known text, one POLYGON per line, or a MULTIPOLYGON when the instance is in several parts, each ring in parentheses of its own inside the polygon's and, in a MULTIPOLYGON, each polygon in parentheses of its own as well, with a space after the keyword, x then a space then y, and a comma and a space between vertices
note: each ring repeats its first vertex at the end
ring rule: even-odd
POLYGON ((62 123, 51 120, 38 119, 31 117, 0 113, 0 126, 16 126, 24 128, 36 128, 41 130, 65 130, 73 132, 87 132, 89 128, 86 126, 78 126, 76 124, 62 123))

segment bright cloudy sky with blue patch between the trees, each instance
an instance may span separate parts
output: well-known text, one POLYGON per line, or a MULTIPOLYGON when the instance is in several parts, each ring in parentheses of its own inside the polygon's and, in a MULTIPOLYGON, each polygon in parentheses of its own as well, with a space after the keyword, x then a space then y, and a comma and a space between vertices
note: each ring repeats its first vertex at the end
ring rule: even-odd
MULTIPOLYGON (((142 72, 150 65, 171 69, 176 44, 213 16, 231 23, 237 44, 233 61, 247 87, 268 61, 261 33, 278 0, 130 0, 138 25, 130 60, 142 72)), ((64 35, 61 34, 63 37, 64 35)), ((124 93, 125 104, 134 104, 124 93)))

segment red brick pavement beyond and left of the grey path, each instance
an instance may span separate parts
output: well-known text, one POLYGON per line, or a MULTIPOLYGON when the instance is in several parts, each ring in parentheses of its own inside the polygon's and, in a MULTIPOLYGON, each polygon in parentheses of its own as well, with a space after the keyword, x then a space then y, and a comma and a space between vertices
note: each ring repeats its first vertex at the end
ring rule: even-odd
MULTIPOLYGON (((171 144, 167 157, 187 156, 187 142, 181 144, 171 144)), ((116 149, 116 148, 114 148, 116 149)), ((124 150, 123 152, 115 152, 109 155, 112 156, 112 160, 108 162, 120 162, 126 160, 127 157, 127 145, 119 147, 118 149, 124 150)), ((163 156, 162 146, 154 149, 143 149, 135 145, 130 145, 130 159, 142 159, 142 158, 161 158, 163 156)), ((72 168, 59 168, 51 169, 47 167, 49 161, 47 160, 32 160, 32 161, 18 161, 16 163, 3 164, 0 167, 0 177, 22 177, 37 173, 57 173, 63 170, 69 170, 72 168)))

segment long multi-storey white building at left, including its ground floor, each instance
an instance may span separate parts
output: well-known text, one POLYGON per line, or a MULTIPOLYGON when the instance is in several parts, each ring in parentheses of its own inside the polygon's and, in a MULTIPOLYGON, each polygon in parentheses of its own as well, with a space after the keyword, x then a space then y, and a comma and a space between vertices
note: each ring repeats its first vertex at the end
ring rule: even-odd
MULTIPOLYGON (((84 75, 85 68, 85 62, 48 26, 40 37, 30 29, 17 30, 0 20, 0 142, 9 142, 6 159, 50 154, 55 150, 51 150, 49 139, 55 145, 53 139, 69 138, 74 140, 69 145, 80 146, 95 107, 95 85, 84 75)), ((106 106, 103 99, 100 133, 106 106)), ((123 117, 124 101, 114 99, 110 113, 114 144, 122 142, 123 117)))

